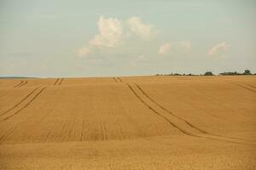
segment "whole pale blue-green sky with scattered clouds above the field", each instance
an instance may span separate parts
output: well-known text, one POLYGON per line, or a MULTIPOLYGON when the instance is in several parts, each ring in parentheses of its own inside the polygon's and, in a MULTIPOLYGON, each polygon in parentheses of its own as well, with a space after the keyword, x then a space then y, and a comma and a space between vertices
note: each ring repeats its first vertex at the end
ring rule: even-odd
POLYGON ((254 0, 0 0, 0 76, 256 72, 254 0))

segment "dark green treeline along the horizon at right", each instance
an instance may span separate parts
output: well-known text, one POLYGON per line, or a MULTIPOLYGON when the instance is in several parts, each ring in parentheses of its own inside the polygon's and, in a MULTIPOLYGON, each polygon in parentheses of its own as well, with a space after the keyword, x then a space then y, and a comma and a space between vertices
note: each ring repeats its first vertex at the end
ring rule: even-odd
MULTIPOLYGON (((256 75, 256 73, 251 73, 249 70, 245 70, 243 73, 240 72, 221 72, 218 75, 220 76, 241 76, 241 75, 256 75)), ((196 75, 196 74, 180 74, 180 73, 171 73, 171 74, 156 74, 155 76, 215 76, 212 71, 207 71, 204 74, 196 75)))

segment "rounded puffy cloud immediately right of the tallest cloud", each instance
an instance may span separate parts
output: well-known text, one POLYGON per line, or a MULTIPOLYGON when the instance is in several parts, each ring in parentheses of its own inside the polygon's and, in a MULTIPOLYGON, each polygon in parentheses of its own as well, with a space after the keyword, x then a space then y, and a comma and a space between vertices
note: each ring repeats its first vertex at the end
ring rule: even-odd
POLYGON ((156 33, 153 27, 147 23, 144 23, 138 17, 131 17, 127 21, 127 25, 130 27, 131 31, 133 31, 138 37, 142 37, 146 40, 155 37, 156 33))

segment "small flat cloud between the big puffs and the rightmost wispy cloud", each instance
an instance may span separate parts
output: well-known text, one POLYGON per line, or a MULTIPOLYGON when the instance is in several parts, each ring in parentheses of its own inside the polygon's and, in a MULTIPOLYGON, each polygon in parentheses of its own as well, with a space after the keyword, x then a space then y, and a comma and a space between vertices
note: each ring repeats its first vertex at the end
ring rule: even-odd
POLYGON ((187 54, 191 50, 189 41, 183 42, 166 42, 159 48, 158 54, 187 54))

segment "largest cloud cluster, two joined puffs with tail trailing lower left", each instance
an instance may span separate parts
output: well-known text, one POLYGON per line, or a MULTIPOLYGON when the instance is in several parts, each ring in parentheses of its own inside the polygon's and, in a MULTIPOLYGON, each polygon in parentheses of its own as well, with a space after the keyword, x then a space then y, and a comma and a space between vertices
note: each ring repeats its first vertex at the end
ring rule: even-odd
POLYGON ((131 36, 148 41, 155 37, 153 26, 143 22, 138 17, 128 20, 105 18, 101 16, 97 22, 99 33, 84 47, 79 48, 79 56, 95 54, 96 51, 107 48, 116 48, 121 42, 129 42, 131 36))

